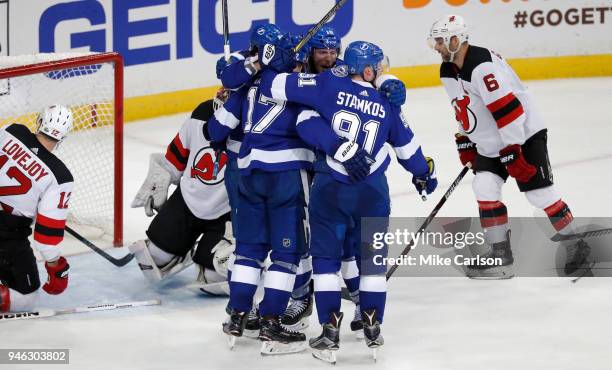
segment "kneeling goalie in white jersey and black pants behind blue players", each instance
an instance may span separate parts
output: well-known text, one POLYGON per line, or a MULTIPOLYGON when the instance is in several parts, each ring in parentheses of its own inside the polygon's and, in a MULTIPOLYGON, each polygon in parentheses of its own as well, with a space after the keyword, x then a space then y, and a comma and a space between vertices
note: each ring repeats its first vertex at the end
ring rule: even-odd
POLYGON ((153 210, 158 213, 146 232, 148 239, 135 242, 129 249, 145 277, 153 282, 195 262, 200 289, 226 295, 228 265, 234 251, 224 185, 227 156, 217 153, 202 132, 213 113, 213 100, 201 103, 168 145, 166 154, 151 154, 149 173, 132 207, 144 207, 148 216, 154 215, 153 210), (217 154, 221 157, 215 177, 217 154), (170 184, 177 188, 167 199, 170 184))

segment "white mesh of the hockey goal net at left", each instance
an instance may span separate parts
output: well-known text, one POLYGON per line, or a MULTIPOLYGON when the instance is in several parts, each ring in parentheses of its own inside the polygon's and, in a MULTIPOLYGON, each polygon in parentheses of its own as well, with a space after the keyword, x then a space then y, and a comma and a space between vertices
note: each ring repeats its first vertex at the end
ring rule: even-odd
MULTIPOLYGON (((80 54, 84 55, 91 54, 80 54)), ((0 58, 0 71, 77 56, 3 57, 0 58)), ((74 117, 73 131, 54 152, 74 177, 68 222, 95 226, 109 236, 115 236, 114 69, 114 63, 105 62, 0 77, 0 127, 22 123, 35 132, 37 113, 44 107, 54 104, 70 107, 74 117)))

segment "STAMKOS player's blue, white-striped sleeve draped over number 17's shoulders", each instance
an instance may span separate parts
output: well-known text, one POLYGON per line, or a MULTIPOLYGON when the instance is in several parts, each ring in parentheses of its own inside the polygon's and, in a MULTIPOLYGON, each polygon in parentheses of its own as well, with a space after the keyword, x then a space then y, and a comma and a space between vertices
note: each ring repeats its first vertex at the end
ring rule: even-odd
POLYGON ((272 99, 290 101, 317 108, 325 91, 324 74, 276 73, 265 70, 259 86, 261 93, 272 99))

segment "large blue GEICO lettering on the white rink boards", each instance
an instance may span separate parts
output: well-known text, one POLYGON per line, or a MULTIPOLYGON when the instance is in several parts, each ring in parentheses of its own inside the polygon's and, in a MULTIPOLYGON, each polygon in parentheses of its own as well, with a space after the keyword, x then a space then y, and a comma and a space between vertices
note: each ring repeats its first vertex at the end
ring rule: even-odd
MULTIPOLYGON (((217 30, 221 30, 222 27, 216 24, 216 20, 222 17, 220 15, 217 17, 216 12, 221 11, 221 7, 216 6, 217 2, 217 0, 82 0, 54 4, 40 15, 39 49, 45 53, 55 52, 56 28, 64 22, 86 20, 88 26, 82 26, 83 22, 78 22, 79 26, 76 26, 75 22, 62 25, 62 30, 69 30, 68 35, 64 36, 64 33, 61 35, 69 38, 70 48, 88 47, 95 52, 114 50, 123 55, 126 66, 192 58, 197 48, 210 54, 221 54, 223 35, 217 30), (152 9, 157 14, 170 12, 174 14, 134 19, 133 13, 136 9, 139 14, 146 13, 143 8, 157 8, 152 9), (174 19, 174 22, 169 22, 169 19, 174 19), (77 29, 77 27, 84 28, 77 29), (134 47, 134 40, 130 41, 134 37, 146 38, 146 44, 150 46, 134 47)), ((245 24, 254 12, 245 6, 232 9, 230 4, 230 39, 233 50, 248 48, 250 30, 270 20, 275 20, 276 25, 283 31, 293 34, 304 34, 312 26, 297 24, 293 20, 293 5, 298 3, 297 0, 250 0, 250 2, 253 9, 259 11, 262 7, 265 9, 268 6, 270 13, 273 14, 269 14, 267 19, 252 19, 246 26, 248 29, 242 28, 239 32, 232 32, 232 19, 239 17, 240 24, 245 24)), ((326 11, 327 9, 321 9, 321 16, 326 11)), ((353 1, 348 1, 328 23, 336 29, 339 37, 346 36, 350 31, 353 25, 353 13, 353 1)), ((318 21, 317 16, 314 18, 313 22, 318 21)))

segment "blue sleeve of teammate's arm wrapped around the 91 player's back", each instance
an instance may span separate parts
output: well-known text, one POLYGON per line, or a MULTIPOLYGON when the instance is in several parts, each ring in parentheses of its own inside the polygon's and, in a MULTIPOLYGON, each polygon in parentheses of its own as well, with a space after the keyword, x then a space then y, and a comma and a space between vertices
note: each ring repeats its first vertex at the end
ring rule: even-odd
POLYGON ((323 150, 330 157, 334 156, 341 139, 329 122, 323 119, 319 113, 310 109, 302 110, 298 115, 296 125, 297 133, 302 140, 317 149, 323 150))

